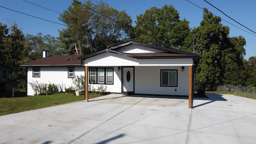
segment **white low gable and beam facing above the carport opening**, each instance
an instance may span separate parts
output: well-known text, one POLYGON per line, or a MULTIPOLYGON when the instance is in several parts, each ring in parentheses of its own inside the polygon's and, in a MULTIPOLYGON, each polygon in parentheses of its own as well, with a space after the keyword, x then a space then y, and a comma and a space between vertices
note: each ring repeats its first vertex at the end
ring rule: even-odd
POLYGON ((106 52, 85 60, 86 66, 192 66, 192 58, 136 59, 106 52))

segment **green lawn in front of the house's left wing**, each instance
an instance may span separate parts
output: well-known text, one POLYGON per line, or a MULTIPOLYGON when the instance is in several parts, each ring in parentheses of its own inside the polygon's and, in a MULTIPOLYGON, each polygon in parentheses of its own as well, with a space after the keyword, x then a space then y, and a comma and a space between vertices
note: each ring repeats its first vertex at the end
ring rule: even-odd
MULTIPOLYGON (((98 94, 89 94, 89 99, 99 97, 98 94)), ((84 100, 84 95, 76 96, 72 94, 52 94, 46 96, 26 96, 14 98, 0 98, 0 116, 6 114, 14 114, 38 108, 46 108, 49 106, 57 106, 70 102, 84 100)))

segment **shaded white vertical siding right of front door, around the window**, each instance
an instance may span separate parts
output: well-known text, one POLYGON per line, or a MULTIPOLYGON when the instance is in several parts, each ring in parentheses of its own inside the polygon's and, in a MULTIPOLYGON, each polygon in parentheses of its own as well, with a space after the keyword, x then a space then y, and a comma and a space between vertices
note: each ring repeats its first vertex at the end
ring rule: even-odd
POLYGON ((188 66, 184 72, 181 66, 135 66, 135 90, 136 94, 164 94, 188 96, 188 66), (160 70, 178 70, 178 86, 160 86, 160 70), (175 89, 177 91, 175 91, 175 89))

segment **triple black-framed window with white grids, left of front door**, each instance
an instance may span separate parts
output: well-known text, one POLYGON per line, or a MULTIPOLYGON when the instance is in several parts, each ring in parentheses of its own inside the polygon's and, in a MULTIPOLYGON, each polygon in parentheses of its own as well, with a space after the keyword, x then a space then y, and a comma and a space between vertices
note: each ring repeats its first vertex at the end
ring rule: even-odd
POLYGON ((90 84, 113 84, 114 68, 89 68, 90 84))

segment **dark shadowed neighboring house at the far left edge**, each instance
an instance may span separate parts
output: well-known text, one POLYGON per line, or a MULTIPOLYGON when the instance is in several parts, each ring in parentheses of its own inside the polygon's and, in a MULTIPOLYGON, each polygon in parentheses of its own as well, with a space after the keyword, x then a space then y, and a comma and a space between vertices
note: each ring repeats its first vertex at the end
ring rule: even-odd
POLYGON ((11 66, 0 62, 0 92, 12 92, 12 82, 10 82, 11 66))

